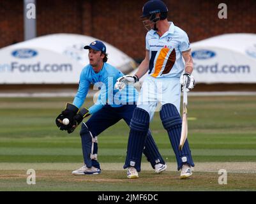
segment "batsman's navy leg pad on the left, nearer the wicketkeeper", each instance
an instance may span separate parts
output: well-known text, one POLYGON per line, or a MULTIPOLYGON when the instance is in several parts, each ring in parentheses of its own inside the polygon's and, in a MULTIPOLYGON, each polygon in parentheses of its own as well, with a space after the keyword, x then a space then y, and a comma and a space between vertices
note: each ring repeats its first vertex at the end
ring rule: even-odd
POLYGON ((142 108, 135 108, 130 122, 130 134, 124 168, 133 166, 140 171, 142 151, 149 131, 149 113, 142 108))

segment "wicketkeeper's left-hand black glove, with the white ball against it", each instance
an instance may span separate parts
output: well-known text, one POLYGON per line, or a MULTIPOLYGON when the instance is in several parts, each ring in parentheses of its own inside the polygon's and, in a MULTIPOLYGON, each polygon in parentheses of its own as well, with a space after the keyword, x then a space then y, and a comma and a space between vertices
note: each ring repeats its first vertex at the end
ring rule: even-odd
POLYGON ((71 128, 73 124, 73 117, 77 114, 78 111, 79 108, 77 108, 77 106, 73 105, 72 103, 67 103, 66 108, 61 112, 61 114, 57 116, 55 120, 57 127, 60 130, 68 130, 69 128, 71 128), (70 120, 70 123, 67 126, 65 126, 62 123, 63 119, 70 120))

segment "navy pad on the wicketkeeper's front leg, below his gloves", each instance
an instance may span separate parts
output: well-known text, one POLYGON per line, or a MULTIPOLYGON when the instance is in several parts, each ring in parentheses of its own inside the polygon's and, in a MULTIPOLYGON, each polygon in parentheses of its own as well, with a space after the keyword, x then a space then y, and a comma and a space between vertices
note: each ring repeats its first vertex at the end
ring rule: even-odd
POLYGON ((86 124, 82 123, 82 129, 80 131, 81 142, 82 142, 82 152, 84 156, 84 163, 87 168, 92 166, 100 169, 100 164, 97 161, 98 154, 98 138, 93 136, 86 124))

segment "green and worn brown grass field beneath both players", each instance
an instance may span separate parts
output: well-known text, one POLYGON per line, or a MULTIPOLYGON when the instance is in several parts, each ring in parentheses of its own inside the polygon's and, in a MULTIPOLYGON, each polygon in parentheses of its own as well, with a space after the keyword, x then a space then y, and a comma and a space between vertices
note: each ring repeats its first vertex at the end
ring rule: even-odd
MULTIPOLYGON (((156 112, 151 130, 170 170, 154 175, 143 158, 140 179, 131 181, 121 168, 129 132, 123 121, 98 137, 98 159, 105 165, 102 174, 74 177, 70 172, 82 165, 80 128, 68 134, 55 125, 56 116, 72 98, 0 98, 0 191, 255 191, 256 96, 189 96, 188 100, 193 178, 178 179, 174 153, 156 112), (110 163, 118 168, 111 169, 110 163), (202 164, 205 168, 197 169, 202 164), (232 168, 223 165, 228 168, 227 185, 218 184, 220 164, 232 164, 232 168), (29 186, 25 169, 34 165, 36 185, 29 186)), ((86 106, 92 103, 89 100, 86 106)))

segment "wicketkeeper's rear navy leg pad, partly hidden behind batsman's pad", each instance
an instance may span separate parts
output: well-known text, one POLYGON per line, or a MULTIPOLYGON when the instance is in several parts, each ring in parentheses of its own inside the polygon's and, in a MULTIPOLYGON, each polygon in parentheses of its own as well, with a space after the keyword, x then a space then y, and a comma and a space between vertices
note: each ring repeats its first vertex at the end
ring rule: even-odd
POLYGON ((163 157, 161 156, 150 131, 147 132, 147 140, 143 153, 145 154, 145 156, 147 157, 147 161, 150 162, 153 168, 154 165, 158 163, 165 164, 165 161, 163 161, 163 157))

